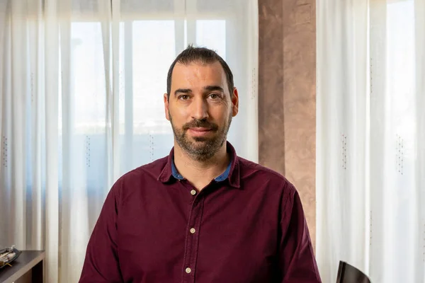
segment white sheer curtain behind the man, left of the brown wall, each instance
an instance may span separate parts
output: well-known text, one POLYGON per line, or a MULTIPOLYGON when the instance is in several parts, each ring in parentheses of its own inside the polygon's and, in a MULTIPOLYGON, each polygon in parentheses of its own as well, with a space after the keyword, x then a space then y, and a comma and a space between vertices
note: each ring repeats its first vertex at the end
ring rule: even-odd
POLYGON ((104 197, 166 156, 166 73, 188 44, 229 63, 229 141, 258 160, 254 0, 0 0, 0 246, 47 251, 47 282, 77 282, 104 197))

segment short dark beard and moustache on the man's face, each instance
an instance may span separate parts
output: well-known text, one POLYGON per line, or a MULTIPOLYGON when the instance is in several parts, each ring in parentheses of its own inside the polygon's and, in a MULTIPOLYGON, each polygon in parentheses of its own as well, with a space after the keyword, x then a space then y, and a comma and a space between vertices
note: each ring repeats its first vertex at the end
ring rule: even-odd
POLYGON ((174 139, 177 144, 186 152, 193 160, 207 161, 212 158, 223 146, 227 139, 230 124, 232 123, 232 114, 229 114, 225 125, 219 127, 217 124, 208 122, 206 119, 192 120, 178 129, 169 113, 171 128, 174 132, 174 139), (191 128, 203 127, 210 129, 214 133, 212 137, 188 137, 187 131, 191 128))

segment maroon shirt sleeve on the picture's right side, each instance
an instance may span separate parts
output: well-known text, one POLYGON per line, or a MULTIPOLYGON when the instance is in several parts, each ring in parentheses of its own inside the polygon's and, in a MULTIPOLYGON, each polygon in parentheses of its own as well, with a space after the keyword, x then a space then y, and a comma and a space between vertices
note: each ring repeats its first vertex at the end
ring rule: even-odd
POLYGON ((287 187, 280 221, 282 283, 321 283, 300 196, 293 185, 287 187))

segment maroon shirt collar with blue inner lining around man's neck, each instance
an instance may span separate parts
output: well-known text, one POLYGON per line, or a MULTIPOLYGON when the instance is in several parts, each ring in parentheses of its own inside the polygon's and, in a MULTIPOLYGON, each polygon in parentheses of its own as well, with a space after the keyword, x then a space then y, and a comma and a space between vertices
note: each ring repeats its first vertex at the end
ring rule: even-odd
MULTIPOLYGON (((232 144, 227 141, 227 152, 230 154, 230 163, 227 166, 227 169, 222 175, 218 176, 214 180, 217 182, 222 182, 226 179, 229 180, 229 185, 232 187, 240 187, 240 178, 239 178, 239 161, 237 160, 237 154, 234 150, 232 144)), ((171 177, 177 180, 183 180, 183 176, 180 175, 177 171, 176 166, 174 165, 174 147, 171 149, 168 160, 162 169, 162 172, 158 176, 158 180, 162 183, 169 182, 171 177)))

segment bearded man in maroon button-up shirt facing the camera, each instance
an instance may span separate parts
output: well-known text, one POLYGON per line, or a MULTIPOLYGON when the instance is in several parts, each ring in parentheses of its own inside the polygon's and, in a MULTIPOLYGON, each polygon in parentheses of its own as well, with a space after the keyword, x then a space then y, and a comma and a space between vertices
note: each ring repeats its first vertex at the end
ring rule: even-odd
POLYGON ((219 55, 179 54, 164 94, 174 148, 113 185, 80 282, 321 282, 295 187, 226 141, 238 100, 219 55))

